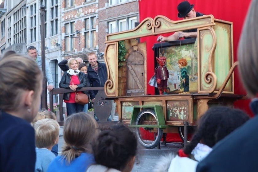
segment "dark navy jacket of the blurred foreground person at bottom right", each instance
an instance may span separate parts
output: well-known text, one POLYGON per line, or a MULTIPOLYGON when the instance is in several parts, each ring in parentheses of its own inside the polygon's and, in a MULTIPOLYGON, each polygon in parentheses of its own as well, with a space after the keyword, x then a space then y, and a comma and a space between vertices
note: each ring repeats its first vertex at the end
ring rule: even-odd
POLYGON ((256 114, 227 137, 216 143, 213 150, 197 165, 197 172, 257 171, 258 99, 250 108, 256 114))

